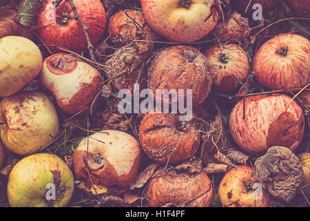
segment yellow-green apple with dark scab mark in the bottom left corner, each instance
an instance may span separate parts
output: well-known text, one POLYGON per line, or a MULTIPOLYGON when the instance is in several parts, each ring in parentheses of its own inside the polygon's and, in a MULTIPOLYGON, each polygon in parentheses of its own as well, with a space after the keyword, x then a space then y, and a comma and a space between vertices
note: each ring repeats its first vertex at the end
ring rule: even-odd
MULTIPOLYGON (((13 167, 8 179, 8 200, 12 207, 47 207, 48 184, 55 184, 53 173, 60 175, 62 194, 57 194, 52 206, 64 207, 74 191, 74 177, 69 166, 56 155, 37 153, 23 158, 13 167)), ((56 186, 57 188, 57 186, 56 186)))

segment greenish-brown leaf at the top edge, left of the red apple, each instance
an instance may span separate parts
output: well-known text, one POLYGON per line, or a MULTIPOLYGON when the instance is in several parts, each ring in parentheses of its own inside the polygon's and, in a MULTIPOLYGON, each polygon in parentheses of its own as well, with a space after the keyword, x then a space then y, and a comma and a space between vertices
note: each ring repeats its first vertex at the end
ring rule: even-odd
POLYGON ((16 17, 17 21, 23 26, 32 26, 40 3, 41 0, 22 0, 21 3, 19 3, 19 10, 16 17))

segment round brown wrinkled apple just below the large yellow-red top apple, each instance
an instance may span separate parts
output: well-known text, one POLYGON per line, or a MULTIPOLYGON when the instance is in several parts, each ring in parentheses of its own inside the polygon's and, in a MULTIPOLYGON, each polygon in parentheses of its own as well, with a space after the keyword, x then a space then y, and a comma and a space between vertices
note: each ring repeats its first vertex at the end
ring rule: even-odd
MULTIPOLYGON (((179 97, 178 89, 191 89, 192 104, 198 106, 209 95, 212 75, 207 58, 198 49, 190 46, 172 46, 154 57, 149 68, 148 86, 153 95, 156 95, 156 89, 175 89, 176 101, 179 97)), ((172 102, 163 96, 161 100, 163 103, 172 102)))

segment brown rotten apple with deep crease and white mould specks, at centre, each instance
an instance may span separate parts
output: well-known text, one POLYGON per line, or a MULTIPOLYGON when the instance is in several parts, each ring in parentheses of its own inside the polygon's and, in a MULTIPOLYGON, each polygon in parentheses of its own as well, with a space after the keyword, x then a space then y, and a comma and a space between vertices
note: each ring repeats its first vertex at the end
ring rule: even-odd
POLYGON ((139 131, 141 148, 155 162, 176 164, 193 157, 200 144, 194 119, 181 122, 178 115, 148 113, 139 131))

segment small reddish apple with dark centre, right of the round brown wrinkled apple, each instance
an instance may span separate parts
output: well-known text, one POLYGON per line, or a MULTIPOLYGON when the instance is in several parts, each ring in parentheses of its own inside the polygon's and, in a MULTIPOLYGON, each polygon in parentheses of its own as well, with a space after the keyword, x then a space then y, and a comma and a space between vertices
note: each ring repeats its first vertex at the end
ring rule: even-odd
POLYGON ((238 81, 245 81, 249 74, 249 59, 247 53, 237 44, 225 46, 210 46, 203 50, 209 63, 214 68, 213 86, 219 93, 230 93, 238 88, 238 81))

